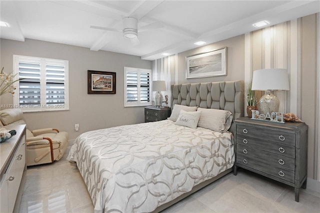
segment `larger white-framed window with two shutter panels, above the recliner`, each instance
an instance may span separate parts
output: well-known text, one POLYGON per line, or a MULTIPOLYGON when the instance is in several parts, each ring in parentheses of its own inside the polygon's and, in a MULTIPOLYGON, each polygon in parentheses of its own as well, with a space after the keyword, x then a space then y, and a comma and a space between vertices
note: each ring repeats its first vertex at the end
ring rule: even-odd
POLYGON ((14 107, 22 111, 69 109, 68 61, 13 55, 17 92, 14 107))

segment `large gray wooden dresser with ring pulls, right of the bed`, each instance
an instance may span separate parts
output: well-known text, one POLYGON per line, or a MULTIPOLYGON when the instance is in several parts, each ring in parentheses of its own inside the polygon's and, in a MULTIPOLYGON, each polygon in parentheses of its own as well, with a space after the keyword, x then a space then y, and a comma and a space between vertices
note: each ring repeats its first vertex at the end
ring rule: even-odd
POLYGON ((235 165, 299 188, 306 187, 307 125, 241 117, 234 121, 235 165))

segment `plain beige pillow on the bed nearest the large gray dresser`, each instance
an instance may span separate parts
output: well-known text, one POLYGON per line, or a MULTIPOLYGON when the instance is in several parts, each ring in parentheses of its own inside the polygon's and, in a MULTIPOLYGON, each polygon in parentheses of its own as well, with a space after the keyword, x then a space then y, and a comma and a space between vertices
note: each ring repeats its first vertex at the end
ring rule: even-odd
POLYGON ((230 128, 232 113, 228 110, 213 108, 197 108, 201 111, 198 126, 213 131, 225 132, 230 128))

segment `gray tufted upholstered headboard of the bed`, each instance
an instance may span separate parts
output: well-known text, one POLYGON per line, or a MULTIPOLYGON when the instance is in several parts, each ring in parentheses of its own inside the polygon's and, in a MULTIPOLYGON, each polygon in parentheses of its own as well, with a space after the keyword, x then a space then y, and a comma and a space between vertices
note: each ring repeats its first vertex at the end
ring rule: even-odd
MULTIPOLYGON (((244 116, 244 81, 171 85, 171 103, 229 110, 233 120, 244 116)), ((231 130, 232 131, 232 130, 231 130)))

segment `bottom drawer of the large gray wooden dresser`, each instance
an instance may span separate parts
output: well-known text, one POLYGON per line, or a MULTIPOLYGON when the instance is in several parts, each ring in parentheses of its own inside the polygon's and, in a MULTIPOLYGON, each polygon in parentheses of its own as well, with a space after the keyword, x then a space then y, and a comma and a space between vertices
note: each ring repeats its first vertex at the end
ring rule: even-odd
POLYGON ((266 174, 272 175, 274 177, 289 181, 289 182, 294 182, 294 171, 280 167, 280 166, 274 166, 272 164, 242 155, 242 154, 237 154, 236 155, 236 164, 241 167, 249 167, 253 168, 255 170, 264 172, 266 174))

